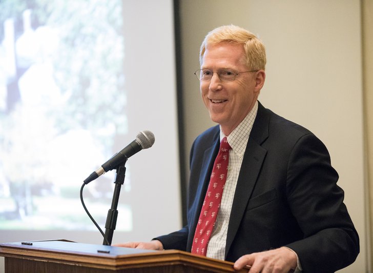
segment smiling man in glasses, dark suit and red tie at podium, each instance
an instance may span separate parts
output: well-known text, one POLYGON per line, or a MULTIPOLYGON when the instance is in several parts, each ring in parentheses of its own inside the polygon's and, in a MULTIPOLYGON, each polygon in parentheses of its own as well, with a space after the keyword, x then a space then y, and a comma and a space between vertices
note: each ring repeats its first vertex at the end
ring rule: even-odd
POLYGON ((151 242, 121 246, 192 251, 235 262, 236 270, 249 265, 250 272, 334 272, 355 261, 359 237, 326 147, 257 101, 265 63, 264 46, 242 28, 223 26, 206 35, 196 75, 219 125, 191 149, 188 224, 151 242), (219 148, 220 142, 229 146, 219 148), (222 157, 227 171, 219 174, 223 190, 214 193, 218 205, 211 212, 216 166, 225 164, 214 160, 222 157))

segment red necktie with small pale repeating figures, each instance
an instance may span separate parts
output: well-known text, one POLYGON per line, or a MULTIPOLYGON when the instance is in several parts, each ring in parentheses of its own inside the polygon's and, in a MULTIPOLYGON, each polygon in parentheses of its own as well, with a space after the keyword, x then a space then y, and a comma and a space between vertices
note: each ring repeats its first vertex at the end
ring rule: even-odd
POLYGON ((206 256, 207 245, 213 232, 216 216, 219 211, 221 196, 223 193, 226 174, 228 172, 229 146, 226 138, 220 143, 219 153, 215 159, 211 173, 210 184, 204 197, 198 224, 194 233, 191 252, 206 256))

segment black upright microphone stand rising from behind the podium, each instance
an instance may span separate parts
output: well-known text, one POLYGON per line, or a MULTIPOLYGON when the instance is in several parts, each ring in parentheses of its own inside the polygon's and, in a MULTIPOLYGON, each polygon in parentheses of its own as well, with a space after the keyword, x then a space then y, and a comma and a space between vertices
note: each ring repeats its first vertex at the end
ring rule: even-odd
POLYGON ((111 202, 111 208, 108 211, 108 217, 106 218, 106 224, 105 224, 105 237, 108 239, 108 242, 103 239, 102 245, 111 245, 111 242, 113 240, 113 234, 116 226, 116 220, 118 218, 118 201, 119 201, 119 194, 120 194, 120 187, 125 183, 125 176, 126 176, 126 162, 127 157, 125 157, 126 160, 121 165, 119 165, 116 168, 115 173, 115 188, 113 193, 113 200, 111 202), (108 244, 109 243, 109 244, 108 244))

